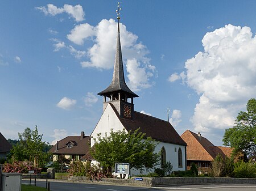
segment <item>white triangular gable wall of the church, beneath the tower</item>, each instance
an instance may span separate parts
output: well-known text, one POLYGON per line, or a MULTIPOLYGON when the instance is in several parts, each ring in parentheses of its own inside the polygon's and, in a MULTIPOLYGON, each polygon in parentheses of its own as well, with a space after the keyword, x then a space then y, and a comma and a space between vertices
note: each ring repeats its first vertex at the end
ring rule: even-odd
POLYGON ((123 130, 124 127, 115 114, 113 108, 110 104, 107 105, 106 109, 104 110, 100 120, 98 121, 98 124, 96 125, 95 129, 93 130, 91 136, 91 147, 94 145, 93 138, 97 139, 97 134, 101 133, 101 136, 105 136, 105 132, 109 135, 111 129, 114 129, 114 131, 123 130))

